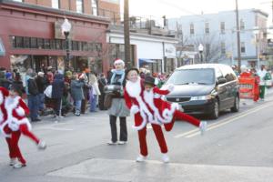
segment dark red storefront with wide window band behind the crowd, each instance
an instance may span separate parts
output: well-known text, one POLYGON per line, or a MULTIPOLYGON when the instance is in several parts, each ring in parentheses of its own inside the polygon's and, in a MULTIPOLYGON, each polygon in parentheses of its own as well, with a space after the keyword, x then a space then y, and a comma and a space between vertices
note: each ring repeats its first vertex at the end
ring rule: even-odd
POLYGON ((21 71, 33 68, 36 72, 47 66, 63 70, 67 47, 60 26, 64 16, 72 24, 68 65, 76 72, 86 67, 106 72, 107 18, 7 1, 0 4, 0 38, 5 47, 0 66, 21 71))

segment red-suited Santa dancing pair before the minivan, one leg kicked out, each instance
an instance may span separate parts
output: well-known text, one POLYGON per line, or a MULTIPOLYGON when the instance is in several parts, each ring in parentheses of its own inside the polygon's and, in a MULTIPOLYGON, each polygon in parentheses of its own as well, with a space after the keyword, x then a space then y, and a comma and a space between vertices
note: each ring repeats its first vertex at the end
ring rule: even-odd
POLYGON ((152 80, 146 80, 146 88, 143 81, 138 76, 139 72, 136 68, 131 68, 126 71, 126 87, 125 99, 126 106, 130 108, 132 114, 135 115, 135 128, 138 130, 138 140, 140 145, 140 155, 136 158, 137 162, 142 162, 147 158, 147 123, 151 123, 154 133, 157 137, 157 142, 163 154, 163 162, 168 162, 167 143, 164 138, 161 124, 164 124, 167 131, 170 131, 174 125, 175 119, 179 118, 187 120, 195 126, 200 126, 204 131, 206 122, 199 122, 194 117, 187 116, 182 112, 177 111, 177 105, 169 104, 157 95, 165 95, 171 91, 161 91, 157 87, 153 87, 152 80), (152 85, 152 86, 151 86, 152 85), (151 89, 152 88, 152 89, 151 89))

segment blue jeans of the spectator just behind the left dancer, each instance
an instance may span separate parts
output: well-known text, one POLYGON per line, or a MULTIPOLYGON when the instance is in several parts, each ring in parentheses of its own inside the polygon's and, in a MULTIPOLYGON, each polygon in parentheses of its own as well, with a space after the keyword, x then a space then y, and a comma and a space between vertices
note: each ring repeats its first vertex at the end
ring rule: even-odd
POLYGON ((37 119, 39 109, 39 96, 27 95, 27 106, 29 107, 29 116, 31 120, 37 119))

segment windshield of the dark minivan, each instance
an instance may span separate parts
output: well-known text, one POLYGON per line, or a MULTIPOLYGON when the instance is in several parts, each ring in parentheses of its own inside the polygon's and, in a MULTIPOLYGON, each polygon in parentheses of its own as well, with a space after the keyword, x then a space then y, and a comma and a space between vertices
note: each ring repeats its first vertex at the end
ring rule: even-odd
POLYGON ((214 69, 181 69, 175 71, 166 84, 173 85, 212 85, 215 83, 214 69))

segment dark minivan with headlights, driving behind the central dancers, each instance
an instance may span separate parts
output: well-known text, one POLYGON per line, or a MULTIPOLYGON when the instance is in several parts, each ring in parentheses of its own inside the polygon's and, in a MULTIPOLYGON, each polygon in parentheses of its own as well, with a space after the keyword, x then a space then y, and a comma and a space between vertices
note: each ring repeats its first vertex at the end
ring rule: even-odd
POLYGON ((175 88, 165 99, 178 103, 187 114, 206 114, 216 119, 222 110, 239 110, 238 77, 230 66, 181 66, 169 76, 163 89, 170 84, 175 88))

